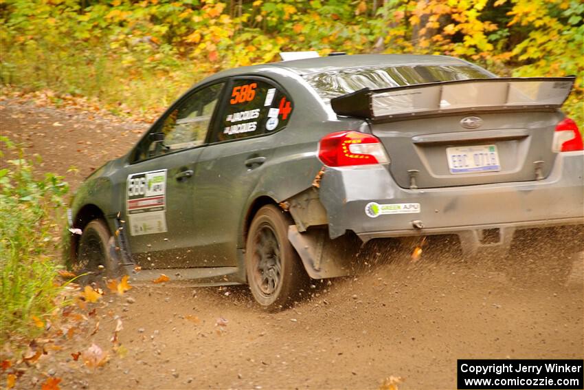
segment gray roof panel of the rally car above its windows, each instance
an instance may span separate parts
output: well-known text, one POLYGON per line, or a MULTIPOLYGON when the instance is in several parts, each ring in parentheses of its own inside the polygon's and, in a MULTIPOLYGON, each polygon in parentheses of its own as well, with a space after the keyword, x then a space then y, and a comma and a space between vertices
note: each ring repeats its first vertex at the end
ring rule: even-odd
POLYGON ((226 69, 210 76, 207 80, 265 72, 267 70, 287 70, 299 76, 320 72, 334 72, 340 69, 357 67, 383 67, 396 65, 470 65, 467 61, 449 56, 431 56, 419 54, 355 54, 344 56, 326 56, 304 60, 281 61, 226 69))

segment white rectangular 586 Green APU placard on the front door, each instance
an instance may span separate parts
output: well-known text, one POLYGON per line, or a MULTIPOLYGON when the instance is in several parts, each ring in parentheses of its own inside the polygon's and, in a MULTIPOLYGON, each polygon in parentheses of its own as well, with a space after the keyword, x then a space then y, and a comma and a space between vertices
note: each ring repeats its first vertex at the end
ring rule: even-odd
POLYGON ((128 175, 126 199, 130 235, 167 231, 166 169, 128 175))

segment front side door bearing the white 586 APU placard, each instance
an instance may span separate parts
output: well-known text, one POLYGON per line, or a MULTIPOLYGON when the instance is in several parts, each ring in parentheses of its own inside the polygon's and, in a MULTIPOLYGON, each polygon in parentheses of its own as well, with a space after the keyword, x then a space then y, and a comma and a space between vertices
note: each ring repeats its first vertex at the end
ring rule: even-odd
POLYGON ((181 98, 137 145, 126 177, 126 237, 142 268, 194 262, 194 173, 224 83, 181 98))

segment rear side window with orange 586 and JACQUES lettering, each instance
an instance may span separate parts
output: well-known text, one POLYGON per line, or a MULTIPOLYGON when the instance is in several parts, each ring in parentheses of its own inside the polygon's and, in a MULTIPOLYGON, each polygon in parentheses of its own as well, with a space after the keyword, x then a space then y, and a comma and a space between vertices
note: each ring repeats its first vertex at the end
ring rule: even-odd
POLYGON ((251 78, 234 80, 225 100, 210 142, 278 131, 286 126, 293 110, 290 98, 275 85, 251 78))

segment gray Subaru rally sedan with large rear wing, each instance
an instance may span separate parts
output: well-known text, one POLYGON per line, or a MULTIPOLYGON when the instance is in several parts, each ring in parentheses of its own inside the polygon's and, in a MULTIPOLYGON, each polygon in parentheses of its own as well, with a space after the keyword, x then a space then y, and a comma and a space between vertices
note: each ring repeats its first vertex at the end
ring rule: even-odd
POLYGON ((559 111, 573 83, 416 55, 220 72, 78 189, 71 268, 247 283, 278 308, 372 239, 456 235, 472 255, 581 225, 582 138, 559 111))

